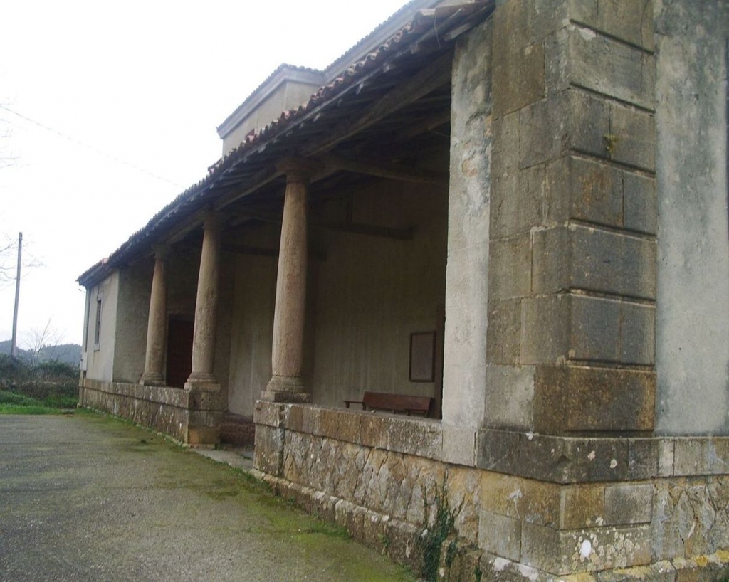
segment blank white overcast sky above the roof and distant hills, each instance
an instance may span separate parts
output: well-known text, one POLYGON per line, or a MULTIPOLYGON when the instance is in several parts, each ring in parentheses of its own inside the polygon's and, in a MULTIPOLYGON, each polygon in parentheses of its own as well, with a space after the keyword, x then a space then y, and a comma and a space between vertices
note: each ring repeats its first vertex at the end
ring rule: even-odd
MULTIPOLYGON (((0 0, 0 106, 50 128, 0 108, 0 248, 22 231, 42 263, 21 279, 21 347, 49 321, 81 342, 78 275, 205 176, 215 127, 276 66, 324 68, 403 4, 0 0)), ((14 298, 0 283, 0 340, 14 298)))

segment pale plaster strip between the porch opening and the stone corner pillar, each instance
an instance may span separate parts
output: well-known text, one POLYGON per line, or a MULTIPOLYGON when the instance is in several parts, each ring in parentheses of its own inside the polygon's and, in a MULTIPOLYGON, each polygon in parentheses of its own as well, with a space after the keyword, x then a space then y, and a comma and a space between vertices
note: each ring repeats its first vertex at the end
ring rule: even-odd
MULTIPOLYGON (((453 58, 448 268, 445 274, 443 422, 483 423, 491 212, 491 23, 470 32, 453 58)), ((470 438, 472 452, 473 439, 470 438)))

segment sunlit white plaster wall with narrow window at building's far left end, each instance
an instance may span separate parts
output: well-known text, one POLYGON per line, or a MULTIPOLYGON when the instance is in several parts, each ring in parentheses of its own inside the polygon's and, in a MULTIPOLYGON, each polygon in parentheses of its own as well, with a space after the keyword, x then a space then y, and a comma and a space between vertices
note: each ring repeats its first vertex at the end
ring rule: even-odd
POLYGON ((119 272, 103 280, 88 291, 90 310, 86 328, 87 368, 86 377, 91 380, 111 382, 114 367, 114 337, 117 326, 117 299, 119 294, 119 272), (98 350, 94 346, 96 330, 96 304, 101 297, 101 329, 98 350))

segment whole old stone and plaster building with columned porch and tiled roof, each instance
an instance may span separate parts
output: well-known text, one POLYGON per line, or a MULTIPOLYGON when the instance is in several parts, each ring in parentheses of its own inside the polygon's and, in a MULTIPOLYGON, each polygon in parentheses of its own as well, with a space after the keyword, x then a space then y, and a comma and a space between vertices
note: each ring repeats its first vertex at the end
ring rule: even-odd
POLYGON ((79 278, 82 404, 252 417, 276 490, 427 575, 726 577, 729 2, 437 4, 274 71, 79 278))

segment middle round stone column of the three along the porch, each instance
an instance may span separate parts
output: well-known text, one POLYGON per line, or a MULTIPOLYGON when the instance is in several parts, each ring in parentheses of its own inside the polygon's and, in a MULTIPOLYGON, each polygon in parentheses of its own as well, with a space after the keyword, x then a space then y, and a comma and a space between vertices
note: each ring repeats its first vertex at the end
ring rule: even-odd
POLYGON ((192 339, 192 374, 184 387, 186 390, 216 391, 220 388, 217 378, 213 374, 219 286, 220 225, 214 213, 206 215, 203 229, 198 299, 195 302, 195 331, 192 339))

